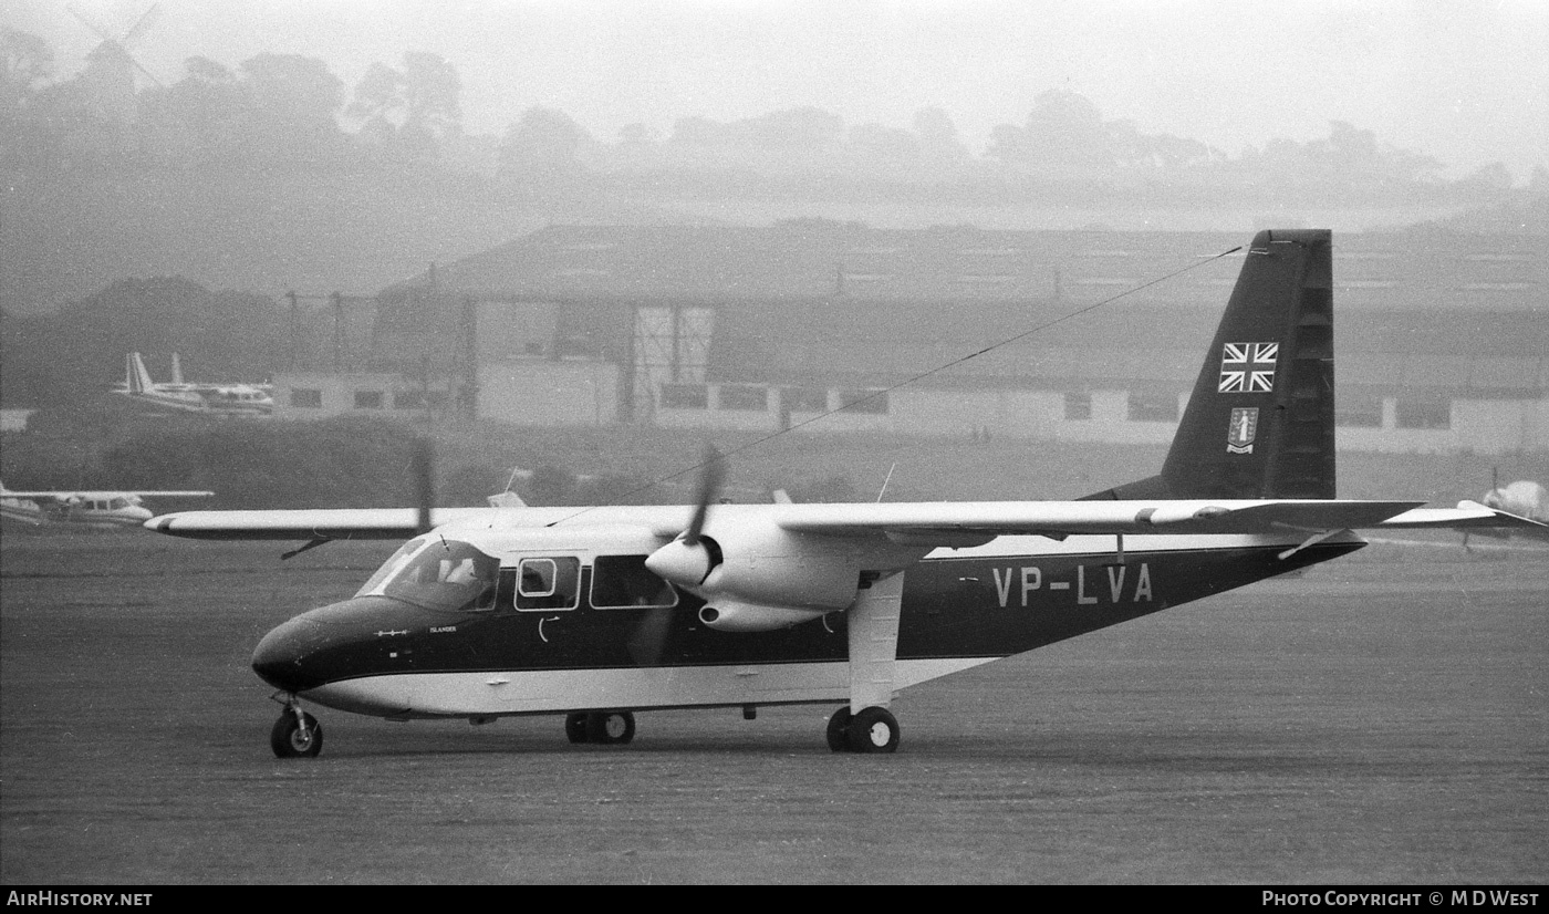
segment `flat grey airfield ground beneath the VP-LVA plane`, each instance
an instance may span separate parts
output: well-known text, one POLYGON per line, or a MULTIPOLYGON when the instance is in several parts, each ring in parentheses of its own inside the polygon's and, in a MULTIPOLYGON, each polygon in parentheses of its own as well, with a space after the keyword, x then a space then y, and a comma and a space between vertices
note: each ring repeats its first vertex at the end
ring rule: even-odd
POLYGON ((276 761, 248 669, 392 544, 0 544, 0 881, 1549 881, 1549 550, 1376 545, 829 708, 389 723, 276 761))

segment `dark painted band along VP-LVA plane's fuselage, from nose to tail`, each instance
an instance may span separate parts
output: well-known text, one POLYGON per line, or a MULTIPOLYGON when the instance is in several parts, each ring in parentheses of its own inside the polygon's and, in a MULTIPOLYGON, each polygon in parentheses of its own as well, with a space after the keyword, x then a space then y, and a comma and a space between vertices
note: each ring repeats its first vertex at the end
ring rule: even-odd
MULTIPOLYGON (((1327 561, 1360 542, 1320 544, 1287 559, 1284 545, 1061 556, 928 559, 905 579, 900 660, 993 658, 1221 593, 1327 561)), ((384 674, 559 671, 637 666, 846 661, 844 613, 770 632, 717 632, 703 604, 595 609, 590 567, 579 606, 519 612, 431 610, 361 596, 304 613, 271 632, 254 669, 271 685, 305 691, 384 674)))

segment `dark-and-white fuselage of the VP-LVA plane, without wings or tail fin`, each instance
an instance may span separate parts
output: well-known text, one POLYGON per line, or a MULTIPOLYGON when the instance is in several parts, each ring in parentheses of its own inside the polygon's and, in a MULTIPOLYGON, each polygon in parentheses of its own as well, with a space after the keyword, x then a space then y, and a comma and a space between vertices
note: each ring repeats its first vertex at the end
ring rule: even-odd
MULTIPOLYGON (((895 688, 1365 545, 1349 534, 1279 558, 1295 544, 1146 539, 1129 538, 1121 561, 1112 536, 1063 544, 1004 538, 931 553, 906 572, 895 688)), ((511 555, 502 556, 500 572, 503 584, 485 609, 428 609, 364 595, 302 613, 259 644, 254 669, 321 705, 393 719, 833 703, 849 696, 844 612, 773 631, 725 632, 703 624, 703 601, 683 592, 672 595, 672 606, 598 606, 620 601, 596 598, 595 556, 511 555), (524 559, 565 558, 578 570, 573 606, 519 609, 514 575, 524 559)))

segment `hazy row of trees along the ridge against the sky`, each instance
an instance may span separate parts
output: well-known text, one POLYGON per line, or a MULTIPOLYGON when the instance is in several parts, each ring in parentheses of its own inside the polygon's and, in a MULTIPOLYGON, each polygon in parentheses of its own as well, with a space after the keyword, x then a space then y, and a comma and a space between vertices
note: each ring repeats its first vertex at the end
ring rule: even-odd
MULTIPOLYGON (((696 181, 810 191, 824 178, 981 195, 1273 186, 1345 200, 1513 184, 1499 163, 1447 181, 1444 163, 1341 121, 1324 138, 1270 139, 1231 153, 1143 132, 1067 90, 1036 96, 1025 118, 994 127, 982 149, 970 149, 936 107, 922 108, 909 127, 793 108, 734 121, 685 116, 666 135, 629 124, 610 139, 561 110, 530 107, 500 135, 474 135, 463 125, 457 70, 437 54, 373 64, 353 88, 314 57, 259 54, 232 68, 195 56, 177 82, 136 88, 133 60, 112 43, 64 81, 53 81, 53 50, 37 36, 0 29, 0 153, 22 169, 398 169, 516 187, 609 180, 637 192, 696 181)), ((1549 189, 1549 172, 1527 181, 1549 189)))

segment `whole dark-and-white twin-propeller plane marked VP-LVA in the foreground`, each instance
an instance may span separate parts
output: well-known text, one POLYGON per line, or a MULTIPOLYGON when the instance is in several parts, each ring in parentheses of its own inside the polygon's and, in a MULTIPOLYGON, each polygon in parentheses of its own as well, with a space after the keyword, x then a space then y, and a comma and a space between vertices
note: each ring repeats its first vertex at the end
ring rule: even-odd
MULTIPOLYGON (((172 536, 412 538, 342 603, 271 631, 279 756, 302 700, 386 719, 564 714, 624 744, 637 711, 840 705, 835 751, 891 753, 898 689, 1324 562, 1360 528, 1520 527, 1464 502, 1334 493, 1327 231, 1253 239, 1162 472, 1069 502, 194 511, 172 536)), ((1540 525, 1541 527, 1541 525, 1540 525)))

